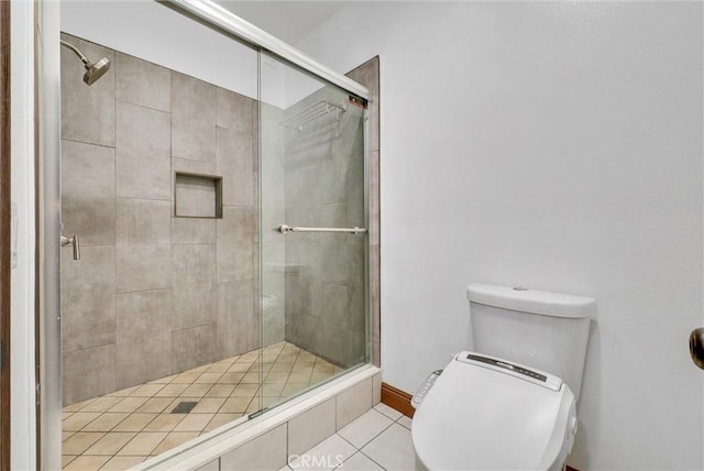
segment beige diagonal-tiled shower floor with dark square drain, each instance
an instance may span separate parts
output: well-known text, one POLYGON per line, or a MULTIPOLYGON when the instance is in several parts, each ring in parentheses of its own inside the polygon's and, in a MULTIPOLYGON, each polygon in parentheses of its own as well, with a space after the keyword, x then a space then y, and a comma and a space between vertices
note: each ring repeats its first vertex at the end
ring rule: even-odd
POLYGON ((66 406, 63 467, 125 470, 260 409, 261 401, 270 406, 339 372, 315 354, 279 342, 66 406), (187 414, 173 414, 184 402, 196 404, 187 414))

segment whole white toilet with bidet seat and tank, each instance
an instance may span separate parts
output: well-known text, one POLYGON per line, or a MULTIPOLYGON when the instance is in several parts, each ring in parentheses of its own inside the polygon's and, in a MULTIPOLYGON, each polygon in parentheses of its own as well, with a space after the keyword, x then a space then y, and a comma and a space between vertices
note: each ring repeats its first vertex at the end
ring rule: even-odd
POLYGON ((457 354, 415 398, 417 468, 563 469, 596 302, 480 284, 466 296, 474 351, 457 354))

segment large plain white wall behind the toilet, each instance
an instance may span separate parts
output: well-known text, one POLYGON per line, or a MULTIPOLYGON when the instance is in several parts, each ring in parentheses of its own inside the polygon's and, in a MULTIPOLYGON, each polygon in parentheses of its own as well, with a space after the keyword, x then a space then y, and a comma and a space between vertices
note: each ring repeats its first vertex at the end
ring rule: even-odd
POLYGON ((381 55, 384 381, 465 346, 471 282, 593 296, 570 463, 702 469, 702 4, 350 2, 297 46, 381 55))

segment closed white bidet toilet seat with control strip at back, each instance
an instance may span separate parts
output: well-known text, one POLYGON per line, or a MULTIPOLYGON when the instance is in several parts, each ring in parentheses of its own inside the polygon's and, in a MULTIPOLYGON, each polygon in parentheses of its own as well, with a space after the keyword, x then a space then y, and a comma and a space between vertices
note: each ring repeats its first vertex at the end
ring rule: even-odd
POLYGON ((420 467, 562 469, 576 428, 568 385, 535 369, 473 355, 480 354, 458 354, 416 410, 411 436, 420 467))

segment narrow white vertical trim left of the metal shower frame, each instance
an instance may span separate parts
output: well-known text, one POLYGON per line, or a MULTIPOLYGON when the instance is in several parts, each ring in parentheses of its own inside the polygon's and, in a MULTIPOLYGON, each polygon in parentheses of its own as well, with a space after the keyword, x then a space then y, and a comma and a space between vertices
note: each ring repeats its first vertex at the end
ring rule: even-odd
POLYGON ((11 9, 12 201, 18 205, 18 266, 11 273, 11 453, 13 470, 35 464, 34 394, 34 9, 11 9))

